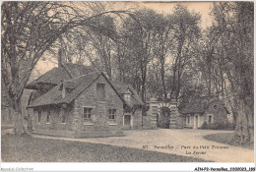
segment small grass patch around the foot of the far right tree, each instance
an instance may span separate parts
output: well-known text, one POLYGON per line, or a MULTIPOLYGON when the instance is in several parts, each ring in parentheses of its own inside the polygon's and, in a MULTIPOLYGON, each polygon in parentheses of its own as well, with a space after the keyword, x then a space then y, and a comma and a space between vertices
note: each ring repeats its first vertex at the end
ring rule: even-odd
POLYGON ((209 141, 214 141, 217 143, 226 143, 229 145, 241 146, 244 148, 253 149, 253 143, 240 145, 240 144, 236 144, 236 143, 232 142, 233 136, 234 136, 233 133, 212 134, 212 135, 205 136, 204 139, 209 140, 209 141))

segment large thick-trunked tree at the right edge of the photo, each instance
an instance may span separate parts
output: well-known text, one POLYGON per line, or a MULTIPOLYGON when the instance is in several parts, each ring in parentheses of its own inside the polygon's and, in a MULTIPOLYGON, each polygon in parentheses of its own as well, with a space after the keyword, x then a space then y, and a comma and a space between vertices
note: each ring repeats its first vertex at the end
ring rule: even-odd
POLYGON ((215 3, 212 12, 212 77, 216 92, 224 93, 236 114, 234 141, 238 143, 254 140, 253 10, 251 2, 222 2, 215 3))

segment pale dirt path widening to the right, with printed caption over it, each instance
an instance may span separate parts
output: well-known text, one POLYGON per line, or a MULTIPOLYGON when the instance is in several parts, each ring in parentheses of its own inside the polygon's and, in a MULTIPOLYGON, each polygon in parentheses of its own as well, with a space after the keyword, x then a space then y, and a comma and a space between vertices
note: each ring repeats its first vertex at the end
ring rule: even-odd
POLYGON ((125 131, 125 137, 110 138, 68 139, 38 135, 33 135, 32 137, 127 146, 197 157, 215 162, 253 162, 254 151, 251 149, 236 147, 224 143, 211 142, 203 139, 203 136, 205 135, 216 133, 227 133, 227 131, 159 129, 125 131), (188 154, 189 152, 191 154, 188 154))

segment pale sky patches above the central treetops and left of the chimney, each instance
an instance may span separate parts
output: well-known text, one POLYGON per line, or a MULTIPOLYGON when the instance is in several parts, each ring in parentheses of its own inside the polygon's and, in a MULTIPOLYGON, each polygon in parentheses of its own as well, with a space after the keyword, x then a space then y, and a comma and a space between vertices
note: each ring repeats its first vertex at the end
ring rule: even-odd
MULTIPOLYGON (((127 9, 137 9, 137 8, 149 8, 162 14, 171 14, 173 12, 176 2, 105 2, 106 8, 109 10, 127 10, 127 9)), ((212 26, 212 19, 209 13, 213 7, 213 2, 181 2, 183 5, 187 6, 188 10, 191 12, 200 13, 201 16, 201 28, 207 29, 212 26)), ((33 76, 38 76, 46 73, 52 68, 57 67, 57 62, 52 63, 48 61, 39 60, 33 76), (36 73, 35 73, 36 71, 36 73)))

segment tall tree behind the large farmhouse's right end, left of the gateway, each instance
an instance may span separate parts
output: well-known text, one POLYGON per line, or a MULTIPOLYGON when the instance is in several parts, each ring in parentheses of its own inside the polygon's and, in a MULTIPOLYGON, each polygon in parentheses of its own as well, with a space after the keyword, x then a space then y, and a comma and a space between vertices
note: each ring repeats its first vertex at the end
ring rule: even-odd
POLYGON ((138 87, 137 91, 145 101, 148 67, 154 57, 154 39, 159 18, 155 11, 145 9, 135 12, 133 16, 126 20, 123 30, 128 41, 130 59, 136 62, 133 79, 140 86, 135 87, 138 87))

